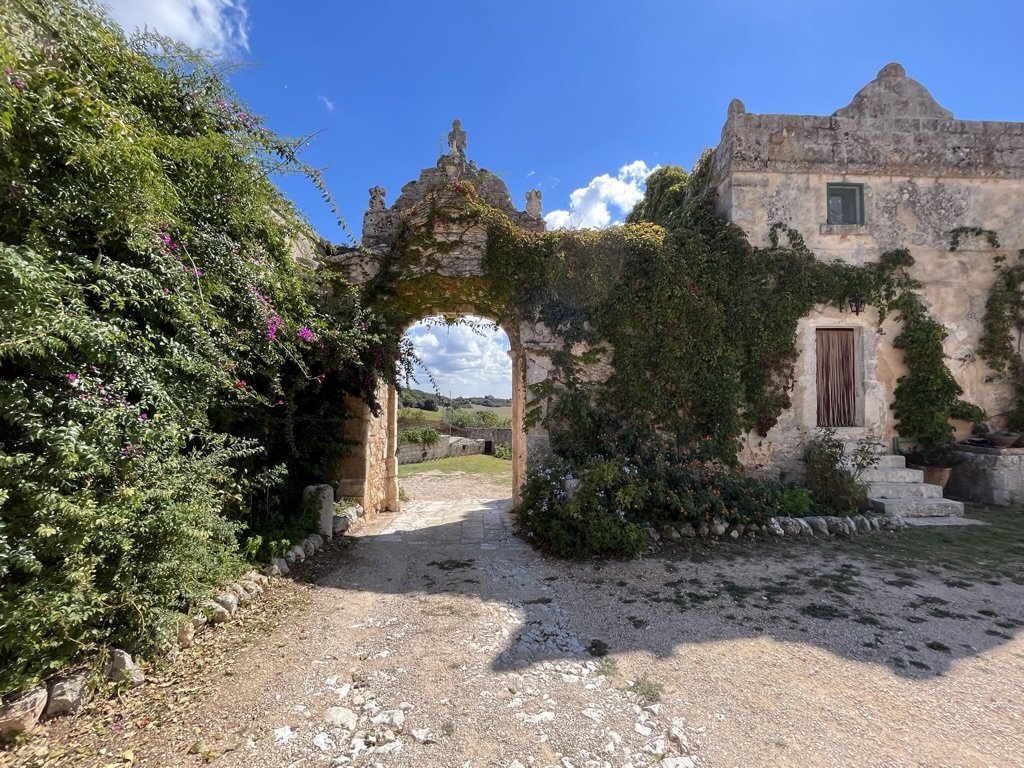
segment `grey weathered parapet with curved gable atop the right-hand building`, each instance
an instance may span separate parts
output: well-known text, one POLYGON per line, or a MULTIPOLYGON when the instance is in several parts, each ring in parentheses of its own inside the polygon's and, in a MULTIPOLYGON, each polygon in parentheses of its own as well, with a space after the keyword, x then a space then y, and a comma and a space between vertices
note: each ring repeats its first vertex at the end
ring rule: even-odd
POLYGON ((733 99, 714 176, 740 171, 1024 179, 1024 123, 957 120, 890 63, 830 116, 754 115, 733 99))

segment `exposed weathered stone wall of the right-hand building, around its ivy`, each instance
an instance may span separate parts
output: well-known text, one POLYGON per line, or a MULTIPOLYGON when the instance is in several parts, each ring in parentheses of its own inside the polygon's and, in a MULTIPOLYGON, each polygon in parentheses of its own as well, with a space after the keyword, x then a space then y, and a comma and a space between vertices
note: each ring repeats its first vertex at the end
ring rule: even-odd
MULTIPOLYGON (((992 257, 1016 258, 1024 246, 1024 124, 955 120, 899 65, 890 65, 830 117, 750 115, 734 101, 713 168, 720 210, 755 245, 767 245, 769 227, 781 221, 823 261, 861 265, 909 248, 925 304, 949 334, 945 349, 965 399, 996 423, 1009 411, 1011 388, 986 381, 991 372, 975 350, 995 280, 992 257), (863 224, 826 223, 829 182, 863 184, 863 224), (951 230, 962 226, 996 231, 1000 250, 971 236, 950 251, 951 230)), ((749 438, 745 463, 792 468, 799 443, 814 431, 819 327, 858 331, 863 426, 841 435, 893 436, 889 406, 906 369, 892 347, 898 325, 887 322, 883 334, 876 325, 870 309, 856 316, 824 307, 801 323, 794 407, 767 438, 749 438)), ((961 432, 969 426, 959 425, 961 432)))

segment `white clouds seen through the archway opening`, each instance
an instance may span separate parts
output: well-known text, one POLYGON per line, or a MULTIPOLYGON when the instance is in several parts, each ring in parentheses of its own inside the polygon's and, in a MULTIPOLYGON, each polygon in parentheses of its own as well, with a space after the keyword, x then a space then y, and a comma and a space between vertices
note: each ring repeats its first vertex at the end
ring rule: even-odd
MULTIPOLYGON (((409 329, 407 335, 441 394, 512 396, 512 359, 508 355, 509 337, 504 331, 485 329, 481 334, 467 326, 424 322, 409 329)), ((414 386, 430 389, 427 377, 422 374, 414 386)))

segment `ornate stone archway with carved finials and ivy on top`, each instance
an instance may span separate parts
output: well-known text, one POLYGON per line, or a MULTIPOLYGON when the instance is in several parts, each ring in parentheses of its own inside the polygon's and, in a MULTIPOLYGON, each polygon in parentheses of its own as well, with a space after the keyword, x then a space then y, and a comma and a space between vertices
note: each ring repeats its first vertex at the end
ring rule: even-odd
MULTIPOLYGON (((512 203, 508 187, 495 174, 466 159, 466 134, 458 121, 449 134, 449 152, 433 168, 420 172, 390 207, 385 190, 370 189, 362 221, 362 243, 337 249, 327 262, 359 286, 365 301, 400 332, 431 315, 474 314, 494 319, 508 334, 512 354, 513 501, 526 476, 527 461, 547 453, 540 426, 526 427, 527 392, 553 374, 550 356, 561 340, 543 324, 520 322, 500 298, 484 268, 486 224, 476 203, 501 211, 526 231, 544 231, 541 193, 526 195, 526 210, 512 203)), ((338 496, 357 499, 368 512, 398 509, 397 411, 393 382, 377 392, 382 413, 348 398, 352 416, 345 439, 355 446, 338 468, 338 496)), ((544 411, 546 403, 530 400, 544 411)))

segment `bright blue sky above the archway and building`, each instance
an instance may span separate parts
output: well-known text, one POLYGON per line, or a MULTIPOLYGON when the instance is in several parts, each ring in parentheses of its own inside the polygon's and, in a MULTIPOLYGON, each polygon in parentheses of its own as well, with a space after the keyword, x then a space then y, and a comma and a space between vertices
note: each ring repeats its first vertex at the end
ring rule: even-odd
MULTIPOLYGON (((748 112, 828 115, 896 60, 958 118, 1024 121, 1020 0, 108 4, 129 30, 248 65, 232 85, 279 133, 317 132, 305 158, 356 236, 367 190, 393 203, 456 117, 469 158, 520 208, 537 187, 550 224, 577 226, 621 220, 646 170, 690 167, 734 97, 748 112)), ((345 241, 307 182, 281 184, 321 234, 345 241)))

